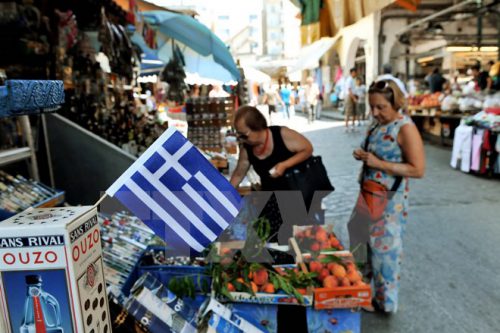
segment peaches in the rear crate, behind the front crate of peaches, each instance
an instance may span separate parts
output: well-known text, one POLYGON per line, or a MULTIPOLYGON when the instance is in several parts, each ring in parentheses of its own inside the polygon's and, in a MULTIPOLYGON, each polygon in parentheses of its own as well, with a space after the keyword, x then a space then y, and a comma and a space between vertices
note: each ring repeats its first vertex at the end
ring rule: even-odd
POLYGON ((303 252, 342 251, 344 247, 335 233, 322 226, 296 227, 294 237, 303 252))

